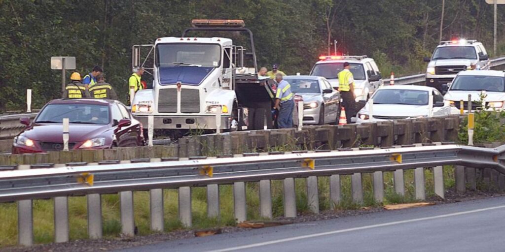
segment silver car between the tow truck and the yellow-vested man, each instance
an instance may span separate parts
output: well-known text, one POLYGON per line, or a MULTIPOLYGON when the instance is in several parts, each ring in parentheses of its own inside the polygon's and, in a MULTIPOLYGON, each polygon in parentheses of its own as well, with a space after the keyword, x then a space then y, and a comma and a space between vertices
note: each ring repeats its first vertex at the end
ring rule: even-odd
POLYGON ((304 125, 337 123, 340 111, 340 95, 324 77, 286 76, 291 92, 304 99, 304 125))

